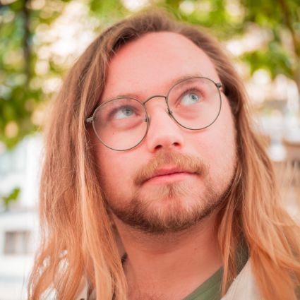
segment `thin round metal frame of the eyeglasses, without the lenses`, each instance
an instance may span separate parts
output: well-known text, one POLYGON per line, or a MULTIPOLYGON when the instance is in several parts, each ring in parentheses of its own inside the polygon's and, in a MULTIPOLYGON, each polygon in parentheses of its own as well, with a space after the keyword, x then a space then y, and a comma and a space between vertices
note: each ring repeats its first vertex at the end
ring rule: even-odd
POLYGON ((169 116, 172 117, 172 119, 176 122, 176 124, 178 124, 178 125, 181 126, 182 128, 186 128, 186 129, 188 129, 188 130, 192 130, 192 131, 196 131, 196 130, 197 130, 197 131, 198 131, 198 130, 203 130, 203 129, 205 129, 205 128, 208 128, 209 126, 211 126, 212 124, 214 124, 215 121, 217 120, 217 118, 219 117, 220 112, 221 112, 221 108, 222 108, 222 97, 221 97, 221 92, 220 92, 220 89, 221 89, 221 88, 222 88, 222 83, 221 83, 221 82, 217 82, 217 83, 216 83, 214 80, 212 80, 212 79, 210 79, 210 78, 207 78, 207 77, 203 77, 203 76, 193 76, 193 77, 184 78, 184 79, 182 79, 182 80, 179 80, 179 81, 178 81, 177 83, 175 83, 174 85, 172 85, 172 87, 169 88, 169 91, 167 92, 167 95, 152 95, 152 96, 146 98, 146 100, 145 100, 144 102, 141 102, 140 100, 138 100, 138 99, 136 99, 136 98, 133 98, 133 97, 117 97, 117 98, 114 98, 114 99, 112 99, 112 100, 108 100, 108 101, 106 101, 106 102, 102 102, 99 106, 97 106, 97 107, 95 108, 94 112, 92 113, 92 116, 90 116, 90 117, 88 117, 87 119, 85 119, 85 123, 87 123, 87 124, 92 124, 92 128, 93 128, 93 130, 94 130, 94 132, 95 132, 95 135, 97 136, 97 139, 100 140, 100 142, 101 142, 105 147, 107 147, 107 148, 109 148, 109 149, 111 149, 111 150, 114 150, 114 151, 128 151, 128 150, 131 150, 131 149, 133 149, 133 148, 136 148, 138 145, 140 145, 140 143, 142 143, 143 140, 145 139, 145 137, 147 136, 148 128, 149 128, 149 126, 150 126, 150 116, 149 116, 149 114, 148 114, 148 112, 147 112, 147 107, 145 106, 145 104, 146 104, 148 101, 152 100, 153 98, 164 98, 164 101, 165 101, 166 104, 167 104, 168 114, 169 114, 169 116), (219 93, 220 109, 219 109, 219 111, 217 112, 217 116, 215 117, 215 119, 214 119, 213 121, 211 121, 210 124, 208 124, 207 126, 204 126, 204 127, 202 127, 202 128, 188 128, 188 127, 186 127, 186 126, 181 125, 181 124, 179 123, 179 121, 176 120, 176 118, 175 118, 174 115, 173 115, 172 110, 169 108, 169 101, 168 101, 168 100, 169 100, 169 93, 172 91, 172 89, 174 88, 174 86, 178 85, 179 83, 182 83, 182 82, 184 82, 184 81, 186 81, 186 80, 196 79, 196 78, 208 79, 208 80, 210 80, 210 82, 212 82, 212 83, 216 86, 217 91, 218 91, 218 93, 219 93), (104 105, 106 105, 106 104, 109 103, 109 102, 113 102, 113 101, 121 100, 121 99, 136 100, 137 102, 139 102, 140 104, 142 104, 143 109, 145 110, 145 116, 146 116, 146 117, 145 117, 145 122, 147 122, 147 127, 146 127, 146 130, 145 130, 145 134, 144 134, 143 138, 140 140, 140 142, 138 142, 136 145, 134 145, 134 146, 131 147, 131 148, 122 149, 122 150, 112 148, 112 147, 110 147, 109 145, 107 145, 106 143, 104 143, 103 140, 101 140, 101 138, 100 138, 100 137, 98 136, 98 134, 97 134, 97 130, 96 130, 96 128, 95 128, 95 122, 94 122, 94 120, 95 120, 95 115, 97 114, 98 110, 99 110, 101 107, 103 107, 104 105))

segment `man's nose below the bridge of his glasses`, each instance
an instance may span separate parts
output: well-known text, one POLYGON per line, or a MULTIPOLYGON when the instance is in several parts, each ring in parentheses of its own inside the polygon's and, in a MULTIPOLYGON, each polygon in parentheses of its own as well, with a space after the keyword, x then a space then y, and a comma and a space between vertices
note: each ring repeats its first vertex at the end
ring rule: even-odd
POLYGON ((176 124, 167 111, 166 104, 148 109, 150 125, 146 143, 150 152, 179 150, 184 146, 183 128, 176 124))

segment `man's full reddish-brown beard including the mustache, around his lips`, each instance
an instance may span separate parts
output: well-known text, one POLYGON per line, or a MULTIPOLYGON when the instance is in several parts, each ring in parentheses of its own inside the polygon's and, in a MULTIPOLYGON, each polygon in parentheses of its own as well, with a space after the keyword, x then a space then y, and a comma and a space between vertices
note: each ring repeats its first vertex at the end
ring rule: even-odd
MULTIPOLYGON (((215 212, 227 198, 236 168, 229 171, 227 182, 219 188, 210 178, 210 169, 199 157, 179 152, 162 152, 148 164, 141 167, 134 176, 134 193, 120 199, 103 184, 103 197, 107 210, 121 222, 148 234, 169 234, 181 232, 199 224, 215 212), (199 184, 176 181, 172 184, 149 185, 145 182, 158 169, 171 164, 197 176, 199 184)), ((227 170, 228 172, 228 170, 227 170)))

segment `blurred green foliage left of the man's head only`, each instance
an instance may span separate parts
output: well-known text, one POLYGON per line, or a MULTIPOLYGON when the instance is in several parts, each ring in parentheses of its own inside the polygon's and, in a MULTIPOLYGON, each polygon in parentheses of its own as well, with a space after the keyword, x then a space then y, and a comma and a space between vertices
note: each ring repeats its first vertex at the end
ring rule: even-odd
POLYGON ((33 3, 18 0, 0 6, 0 140, 8 148, 39 125, 34 114, 48 97, 37 84, 35 32, 41 24, 51 25, 64 5, 49 1, 43 11, 33 3))

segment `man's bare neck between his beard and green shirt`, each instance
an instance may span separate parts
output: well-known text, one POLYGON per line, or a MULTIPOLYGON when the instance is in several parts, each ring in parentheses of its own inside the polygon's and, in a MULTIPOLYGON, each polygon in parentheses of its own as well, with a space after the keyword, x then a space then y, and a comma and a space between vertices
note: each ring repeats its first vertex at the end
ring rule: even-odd
POLYGON ((130 299, 140 298, 136 291, 182 299, 217 271, 222 258, 215 220, 212 214, 183 232, 156 236, 115 220, 127 253, 124 272, 130 299))

